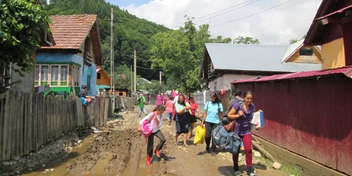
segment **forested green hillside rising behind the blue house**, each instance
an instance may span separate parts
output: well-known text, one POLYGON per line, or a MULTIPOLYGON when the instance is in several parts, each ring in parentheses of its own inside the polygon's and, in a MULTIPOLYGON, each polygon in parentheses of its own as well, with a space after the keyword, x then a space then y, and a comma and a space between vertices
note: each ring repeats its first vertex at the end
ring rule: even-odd
MULTIPOLYGON (((149 59, 153 44, 151 37, 169 29, 148 20, 137 18, 118 6, 106 3, 104 0, 51 0, 51 4, 42 1, 44 9, 49 15, 97 14, 103 48, 103 59, 107 60, 106 68, 110 68, 110 8, 113 8, 114 17, 114 58, 115 66, 133 65, 133 49, 137 51, 137 58, 149 59), (116 19, 118 18, 118 19, 116 19)), ((151 62, 137 60, 140 67, 150 68, 151 62)), ((109 71, 109 69, 106 69, 109 71)), ((159 74, 150 70, 138 69, 138 75, 148 80, 158 80, 159 74)))

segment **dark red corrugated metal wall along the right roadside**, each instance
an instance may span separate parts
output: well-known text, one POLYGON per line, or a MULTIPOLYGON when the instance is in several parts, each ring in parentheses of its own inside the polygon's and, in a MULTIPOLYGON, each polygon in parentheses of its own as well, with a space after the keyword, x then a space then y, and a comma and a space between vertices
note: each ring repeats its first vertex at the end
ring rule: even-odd
POLYGON ((234 84, 264 111, 256 132, 273 144, 352 175, 352 79, 345 75, 234 84))

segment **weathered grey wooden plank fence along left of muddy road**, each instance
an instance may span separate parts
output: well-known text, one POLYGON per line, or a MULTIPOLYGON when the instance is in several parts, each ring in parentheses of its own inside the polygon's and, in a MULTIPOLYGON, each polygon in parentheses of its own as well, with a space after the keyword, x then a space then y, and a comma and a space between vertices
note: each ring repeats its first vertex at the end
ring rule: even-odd
MULTIPOLYGON (((96 127, 106 125, 109 100, 95 101, 96 127)), ((28 155, 77 127, 84 127, 82 101, 77 96, 63 99, 14 91, 0 94, 0 162, 28 155)))

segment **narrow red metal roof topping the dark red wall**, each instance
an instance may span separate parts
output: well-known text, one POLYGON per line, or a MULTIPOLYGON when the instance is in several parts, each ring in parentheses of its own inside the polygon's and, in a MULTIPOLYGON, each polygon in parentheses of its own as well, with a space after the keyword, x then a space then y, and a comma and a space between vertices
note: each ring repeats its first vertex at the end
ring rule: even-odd
POLYGON ((294 78, 318 77, 318 76, 335 75, 335 74, 344 74, 347 77, 352 78, 352 66, 332 68, 332 69, 326 69, 326 70, 315 70, 315 71, 309 71, 309 72, 287 73, 287 74, 272 75, 272 76, 260 77, 260 78, 249 78, 249 79, 243 79, 243 80, 235 80, 234 82, 231 82, 231 83, 267 82, 267 81, 275 81, 275 80, 289 80, 294 78))

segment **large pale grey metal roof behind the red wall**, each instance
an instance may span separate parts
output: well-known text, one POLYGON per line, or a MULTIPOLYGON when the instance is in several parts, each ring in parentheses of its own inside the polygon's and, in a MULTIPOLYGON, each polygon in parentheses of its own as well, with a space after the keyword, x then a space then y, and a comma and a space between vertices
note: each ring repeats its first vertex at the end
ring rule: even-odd
POLYGON ((206 44, 215 70, 299 72, 321 68, 317 63, 281 63, 288 47, 288 44, 206 44))

